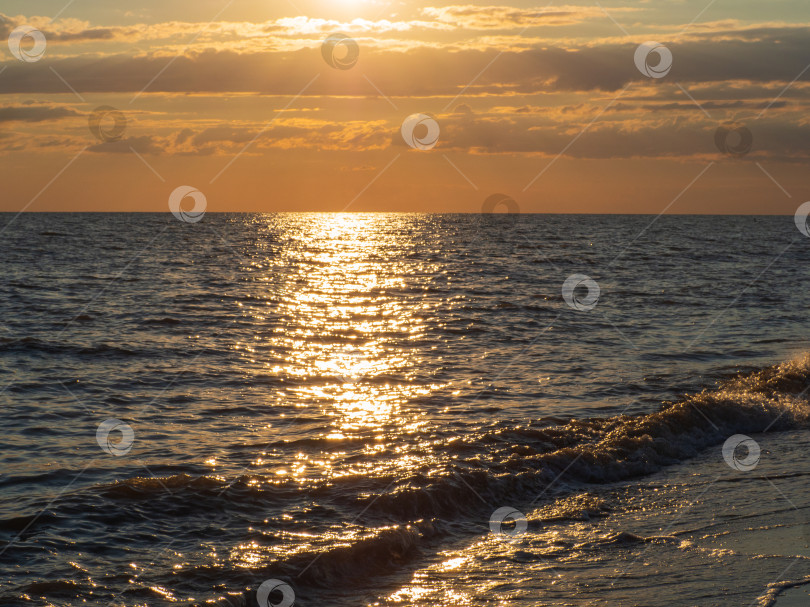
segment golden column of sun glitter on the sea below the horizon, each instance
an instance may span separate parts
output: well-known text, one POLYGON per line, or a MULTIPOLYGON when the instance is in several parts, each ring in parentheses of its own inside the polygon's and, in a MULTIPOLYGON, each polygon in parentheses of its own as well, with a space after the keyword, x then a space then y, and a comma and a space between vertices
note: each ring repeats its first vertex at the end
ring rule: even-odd
MULTIPOLYGON (((385 442, 422 427, 413 403, 438 386, 418 377, 424 365, 417 342, 427 331, 427 314, 411 274, 418 267, 430 275, 433 268, 409 261, 417 243, 397 224, 403 220, 337 213, 256 221, 268 222, 257 232, 264 229, 265 240, 274 243, 264 247, 265 260, 252 264, 254 284, 265 289, 256 299, 267 301, 268 311, 245 311, 257 329, 253 341, 234 348, 281 378, 276 398, 298 412, 284 413, 268 431, 294 430, 299 417, 317 416, 328 420, 328 428, 318 424, 323 438, 385 442), (288 223, 274 228, 278 221, 288 223), (281 322, 264 331, 269 323, 262 318, 271 314, 281 322)), ((297 479, 349 472, 333 469, 334 463, 297 460, 274 472, 297 479)), ((400 464, 413 465, 407 458, 387 463, 400 464)))

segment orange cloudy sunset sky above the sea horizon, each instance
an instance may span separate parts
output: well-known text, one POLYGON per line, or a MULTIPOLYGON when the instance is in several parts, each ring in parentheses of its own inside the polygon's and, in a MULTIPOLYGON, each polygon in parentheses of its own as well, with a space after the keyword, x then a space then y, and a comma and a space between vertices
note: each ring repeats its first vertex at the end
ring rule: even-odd
POLYGON ((5 0, 0 39, 0 211, 810 200, 799 0, 5 0))

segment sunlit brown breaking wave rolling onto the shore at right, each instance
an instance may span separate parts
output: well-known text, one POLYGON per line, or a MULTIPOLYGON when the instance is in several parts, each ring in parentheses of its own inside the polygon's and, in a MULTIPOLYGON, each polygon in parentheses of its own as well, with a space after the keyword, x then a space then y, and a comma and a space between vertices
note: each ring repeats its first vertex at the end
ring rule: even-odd
MULTIPOLYGON (((415 517, 463 508, 471 490, 484 498, 532 499, 556 483, 606 483, 645 476, 695 456, 734 434, 805 426, 810 356, 726 381, 646 415, 510 428, 476 437, 491 445, 488 465, 365 498, 372 510, 415 517), (556 479, 560 479, 556 481, 556 479)), ((469 443, 468 443, 469 444, 469 443)))

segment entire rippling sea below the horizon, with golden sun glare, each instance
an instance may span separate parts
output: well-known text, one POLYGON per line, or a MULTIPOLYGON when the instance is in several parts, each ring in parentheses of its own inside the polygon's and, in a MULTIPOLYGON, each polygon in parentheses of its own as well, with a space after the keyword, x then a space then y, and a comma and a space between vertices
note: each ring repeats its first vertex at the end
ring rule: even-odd
POLYGON ((0 230, 2 605, 810 600, 792 217, 0 230))

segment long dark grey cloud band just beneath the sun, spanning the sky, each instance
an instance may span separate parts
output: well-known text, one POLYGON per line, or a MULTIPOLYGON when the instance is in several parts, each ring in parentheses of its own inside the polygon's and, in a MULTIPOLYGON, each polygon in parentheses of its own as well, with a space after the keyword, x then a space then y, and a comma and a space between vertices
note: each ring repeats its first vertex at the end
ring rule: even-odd
MULTIPOLYGON (((370 50, 349 71, 330 70, 318 49, 236 53, 207 50, 171 61, 154 56, 77 56, 38 63, 7 62, 4 93, 61 93, 64 84, 49 67, 82 93, 254 92, 296 95, 316 74, 307 94, 376 95, 368 76, 389 97, 477 93, 618 91, 628 83, 753 84, 789 82, 807 65, 810 28, 762 28, 702 34, 671 43, 674 65, 660 81, 644 78, 633 63, 634 45, 608 44, 576 49, 555 47, 509 51, 483 73, 500 51, 415 47, 408 52, 370 50), (732 36, 733 34, 733 36, 732 36), (480 76, 479 76, 480 74, 480 76), (477 79, 476 79, 477 77, 477 79), (475 82, 470 85, 471 82, 475 82)), ((744 95, 745 91, 740 91, 744 95)))

